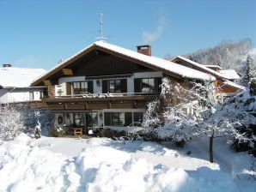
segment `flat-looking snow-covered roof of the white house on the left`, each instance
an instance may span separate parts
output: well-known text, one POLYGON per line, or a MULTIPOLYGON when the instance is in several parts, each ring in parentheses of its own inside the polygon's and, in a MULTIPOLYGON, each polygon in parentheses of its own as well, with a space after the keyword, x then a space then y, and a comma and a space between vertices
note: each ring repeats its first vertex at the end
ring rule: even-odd
POLYGON ((0 85, 2 87, 29 87, 35 78, 44 73, 46 73, 45 69, 0 68, 0 85))

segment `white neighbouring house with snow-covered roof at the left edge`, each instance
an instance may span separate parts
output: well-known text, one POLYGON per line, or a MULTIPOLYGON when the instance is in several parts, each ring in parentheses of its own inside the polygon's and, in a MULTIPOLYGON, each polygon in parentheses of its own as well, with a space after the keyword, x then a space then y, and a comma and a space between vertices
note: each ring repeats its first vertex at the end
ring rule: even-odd
POLYGON ((32 81, 46 73, 45 69, 0 68, 0 104, 40 102, 45 87, 30 87, 32 81))

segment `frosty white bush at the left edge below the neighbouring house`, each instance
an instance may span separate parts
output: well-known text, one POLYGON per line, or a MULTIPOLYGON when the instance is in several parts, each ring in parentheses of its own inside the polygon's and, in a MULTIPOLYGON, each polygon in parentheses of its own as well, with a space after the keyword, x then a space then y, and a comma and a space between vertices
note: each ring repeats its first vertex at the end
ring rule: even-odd
POLYGON ((24 116, 21 106, 1 106, 0 111, 0 142, 13 140, 24 127, 24 116))

